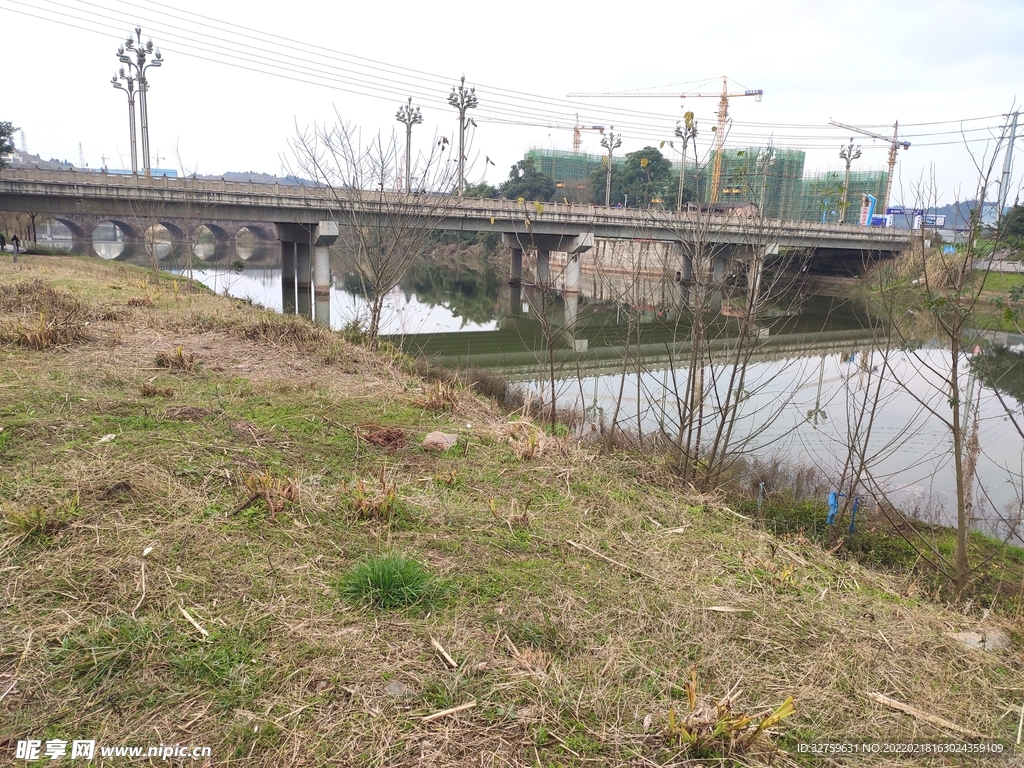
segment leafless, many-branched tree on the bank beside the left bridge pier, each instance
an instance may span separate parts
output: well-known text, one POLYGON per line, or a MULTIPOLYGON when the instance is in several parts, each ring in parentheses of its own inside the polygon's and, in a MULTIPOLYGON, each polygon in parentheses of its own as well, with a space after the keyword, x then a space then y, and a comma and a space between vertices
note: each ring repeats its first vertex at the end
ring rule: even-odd
POLYGON ((340 224, 337 248, 359 276, 370 303, 367 337, 376 347, 388 292, 431 245, 434 230, 458 205, 449 141, 434 140, 414 166, 413 193, 397 191, 403 147, 394 134, 366 143, 338 118, 300 131, 292 150, 301 175, 311 178, 340 224))

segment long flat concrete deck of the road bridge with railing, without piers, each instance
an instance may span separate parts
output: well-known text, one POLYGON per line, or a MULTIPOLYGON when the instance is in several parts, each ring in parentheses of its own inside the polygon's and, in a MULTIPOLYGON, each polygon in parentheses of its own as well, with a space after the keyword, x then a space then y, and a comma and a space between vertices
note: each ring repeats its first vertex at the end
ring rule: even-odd
POLYGON ((596 238, 709 243, 773 243, 781 247, 893 252, 908 234, 851 224, 740 218, 697 212, 605 208, 591 204, 475 200, 447 195, 334 190, 199 178, 122 176, 102 172, 4 169, 0 209, 42 214, 148 218, 224 218, 315 224, 351 216, 367 220, 419 217, 444 230, 579 234, 596 238), (343 211, 343 214, 339 212, 343 211), (137 211, 136 211, 137 214, 137 211))

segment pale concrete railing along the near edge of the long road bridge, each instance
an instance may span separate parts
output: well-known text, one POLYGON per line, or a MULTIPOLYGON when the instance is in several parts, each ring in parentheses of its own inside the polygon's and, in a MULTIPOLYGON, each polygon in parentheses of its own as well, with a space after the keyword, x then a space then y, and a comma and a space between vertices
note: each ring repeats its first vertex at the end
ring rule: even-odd
MULTIPOLYGON (((749 232, 753 228, 771 230, 786 230, 790 233, 800 233, 805 237, 820 237, 827 234, 829 240, 869 240, 876 243, 900 243, 907 240, 907 233, 894 229, 865 228, 856 224, 821 224, 802 220, 763 220, 752 219, 729 214, 711 214, 684 211, 645 210, 641 208, 605 208, 590 203, 541 203, 531 201, 520 203, 515 200, 493 200, 457 198, 435 194, 419 195, 417 193, 375 193, 352 189, 335 189, 317 185, 289 184, 275 182, 272 184, 254 181, 225 181, 224 179, 207 179, 195 176, 141 176, 106 173, 104 171, 51 171, 40 168, 6 168, 0 170, 0 184, 14 182, 11 186, 25 183, 43 184, 52 188, 51 194, 81 195, 87 187, 103 197, 102 189, 135 189, 140 197, 146 190, 173 190, 176 199, 189 195, 206 197, 204 202, 217 203, 249 203, 253 205, 270 205, 280 207, 332 208, 346 207, 353 212, 380 213, 382 211, 408 211, 415 213, 424 208, 433 208, 432 216, 451 218, 463 216, 472 219, 522 220, 551 223, 563 223, 567 227, 592 227, 606 225, 632 229, 638 237, 644 230, 652 227, 680 230, 693 230, 698 225, 716 228, 716 231, 749 232), (20 183, 19 183, 20 182, 20 183), (60 189, 71 186, 74 189, 60 189), (224 200, 229 197, 229 200, 224 200), (428 202, 429 201, 429 202, 428 202)), ((9 191, 15 191, 8 187, 9 191)), ((25 190, 29 193, 28 189, 25 190)), ((163 197, 158 191, 158 197, 163 197)), ((32 194, 46 194, 43 189, 32 194)), ((123 194, 119 195, 123 197, 123 194)))

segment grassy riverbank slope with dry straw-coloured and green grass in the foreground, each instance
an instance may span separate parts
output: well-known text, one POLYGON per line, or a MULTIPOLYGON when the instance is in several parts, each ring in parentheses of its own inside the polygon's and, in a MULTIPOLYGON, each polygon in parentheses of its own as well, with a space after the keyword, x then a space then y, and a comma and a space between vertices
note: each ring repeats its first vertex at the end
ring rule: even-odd
POLYGON ((1016 736, 1019 644, 944 635, 977 615, 773 539, 628 455, 540 437, 522 458, 528 428, 468 392, 432 408, 429 385, 359 347, 168 280, 158 295, 138 269, 4 261, 8 336, 37 323, 35 279, 73 290, 90 325, 59 350, 0 346, 4 755, 96 738, 206 744, 215 765, 676 765, 659 730, 694 666, 702 695, 738 683, 752 715, 795 696, 776 764, 813 764, 800 741, 955 738, 866 691, 1016 736), (195 371, 156 365, 177 345, 195 371), (367 425, 409 444, 378 447, 367 425), (460 447, 424 452, 437 428, 460 447), (262 473, 297 489, 273 516, 245 506, 262 473), (381 477, 392 508, 358 512, 381 477), (380 551, 444 589, 406 610, 342 599, 340 577, 380 551))

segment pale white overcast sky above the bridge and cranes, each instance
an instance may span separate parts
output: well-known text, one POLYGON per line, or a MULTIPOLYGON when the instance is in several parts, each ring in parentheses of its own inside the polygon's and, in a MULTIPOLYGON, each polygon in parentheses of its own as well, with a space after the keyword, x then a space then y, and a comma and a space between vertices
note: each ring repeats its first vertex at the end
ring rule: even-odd
MULTIPOLYGON (((735 88, 764 90, 760 102, 731 100, 728 145, 771 139, 806 148, 809 171, 839 169, 851 132, 829 119, 887 135, 899 120, 912 145, 899 153, 894 199, 911 203, 934 169, 945 204, 974 197, 969 150, 979 162, 990 157, 1002 114, 1024 96, 1022 0, 0 0, 0 120, 22 127, 28 150, 44 158, 78 164, 81 142, 91 167, 103 156, 109 167, 130 167, 127 98, 110 79, 136 24, 165 59, 151 71, 152 154, 159 150, 162 167, 210 174, 280 174, 294 166, 296 126, 334 121, 336 111, 365 135, 403 131, 394 114, 408 96, 424 116, 414 148, 435 134, 454 138, 458 113, 445 99, 462 75, 479 98, 470 111, 471 181, 500 182, 532 146, 571 148, 571 130, 547 126, 571 126, 577 113, 586 124, 615 125, 620 152, 630 152, 671 139, 682 109, 692 110, 707 148, 716 98, 566 94, 716 92, 727 75, 735 88)), ((584 133, 584 150, 602 152, 599 138, 584 133)), ((855 140, 863 155, 854 170, 886 166, 885 141, 855 140)), ((1018 139, 1018 169, 1022 147, 1018 139)), ((995 176, 1000 170, 1001 159, 995 176)), ((1015 170, 1011 203, 1021 175, 1015 170)))

